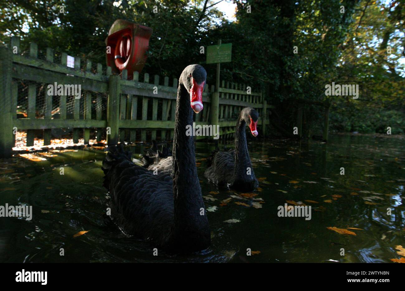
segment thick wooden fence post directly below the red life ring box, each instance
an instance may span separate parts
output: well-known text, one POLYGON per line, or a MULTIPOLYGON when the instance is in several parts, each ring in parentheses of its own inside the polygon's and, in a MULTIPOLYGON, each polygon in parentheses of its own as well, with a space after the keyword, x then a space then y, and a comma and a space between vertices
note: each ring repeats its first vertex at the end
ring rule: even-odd
POLYGON ((111 75, 108 78, 108 100, 107 100, 107 145, 118 143, 119 126, 119 93, 121 84, 119 76, 111 75), (108 127, 110 134, 108 134, 108 127))

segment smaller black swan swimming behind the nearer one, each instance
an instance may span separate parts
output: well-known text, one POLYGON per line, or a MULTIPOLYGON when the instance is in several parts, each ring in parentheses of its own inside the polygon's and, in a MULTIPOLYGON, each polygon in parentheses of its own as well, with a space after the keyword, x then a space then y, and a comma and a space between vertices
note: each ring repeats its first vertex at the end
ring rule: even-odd
POLYGON ((254 175, 252 162, 246 143, 245 124, 250 132, 257 136, 256 129, 259 114, 253 108, 243 108, 239 114, 235 131, 235 149, 228 151, 214 151, 208 161, 205 177, 218 186, 229 186, 239 191, 252 191, 258 187, 254 175))

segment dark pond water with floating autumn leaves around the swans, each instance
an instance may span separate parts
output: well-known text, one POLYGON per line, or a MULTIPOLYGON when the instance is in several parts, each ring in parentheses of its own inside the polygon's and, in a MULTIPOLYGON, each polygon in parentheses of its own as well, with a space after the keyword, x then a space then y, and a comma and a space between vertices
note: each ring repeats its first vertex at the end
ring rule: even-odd
MULTIPOLYGON (((111 222, 105 214, 102 150, 52 152, 40 162, 2 160, 0 205, 32 205, 33 216, 30 221, 0 217, 0 262, 391 262, 401 257, 395 247, 405 246, 403 140, 335 135, 328 144, 268 139, 250 140, 248 147, 260 188, 238 193, 206 181, 205 158, 214 146, 196 143, 212 242, 191 255, 153 256, 147 242, 111 222), (287 200, 310 205, 311 219, 279 217, 278 207, 287 200), (80 231, 88 232, 74 237, 80 231), (254 255, 247 255, 248 248, 254 255)), ((141 153, 144 146, 130 149, 141 153)))

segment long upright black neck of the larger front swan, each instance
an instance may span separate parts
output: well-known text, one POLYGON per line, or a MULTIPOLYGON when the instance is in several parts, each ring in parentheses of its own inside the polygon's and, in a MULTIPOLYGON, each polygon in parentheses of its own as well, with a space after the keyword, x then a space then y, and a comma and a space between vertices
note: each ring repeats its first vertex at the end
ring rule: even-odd
POLYGON ((192 122, 190 94, 180 83, 173 139, 174 222, 169 238, 169 245, 178 251, 206 249, 211 239, 197 175, 194 140, 186 136, 186 126, 192 126, 192 122))

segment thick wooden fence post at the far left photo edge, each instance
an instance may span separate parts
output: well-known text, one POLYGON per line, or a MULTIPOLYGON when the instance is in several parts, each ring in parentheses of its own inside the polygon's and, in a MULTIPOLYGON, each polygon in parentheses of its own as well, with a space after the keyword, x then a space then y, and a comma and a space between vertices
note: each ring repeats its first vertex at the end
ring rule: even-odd
POLYGON ((11 69, 13 66, 12 51, 10 48, 0 48, 0 157, 8 158, 13 149, 13 112, 16 114, 17 108, 12 108, 11 93, 11 69))

